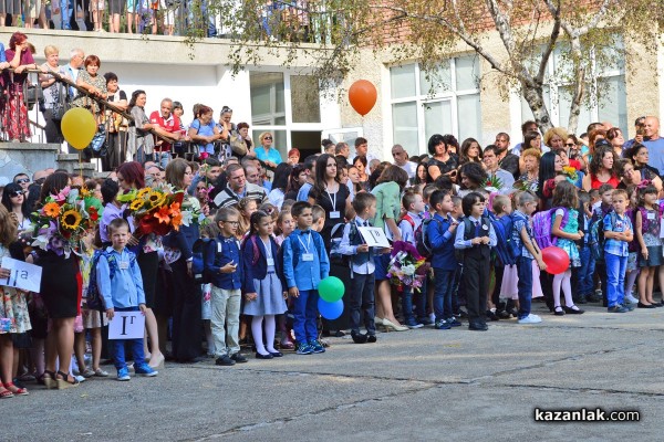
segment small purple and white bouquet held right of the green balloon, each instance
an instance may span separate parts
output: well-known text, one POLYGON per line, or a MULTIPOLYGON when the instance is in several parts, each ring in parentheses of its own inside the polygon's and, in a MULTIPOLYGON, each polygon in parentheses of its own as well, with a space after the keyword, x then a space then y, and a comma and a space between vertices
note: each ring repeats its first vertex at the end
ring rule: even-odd
POLYGON ((392 244, 392 259, 387 266, 387 277, 392 284, 400 287, 412 287, 419 292, 426 280, 430 264, 417 253, 417 249, 406 241, 395 241, 392 244))

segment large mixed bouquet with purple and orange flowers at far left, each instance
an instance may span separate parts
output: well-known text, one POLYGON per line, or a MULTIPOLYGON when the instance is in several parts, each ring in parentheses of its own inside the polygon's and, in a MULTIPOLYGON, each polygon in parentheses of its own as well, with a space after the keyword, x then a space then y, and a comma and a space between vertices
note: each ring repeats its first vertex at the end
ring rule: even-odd
POLYGON ((95 198, 69 186, 46 197, 44 204, 31 215, 32 246, 51 250, 69 257, 79 252, 81 240, 96 228, 100 214, 95 198))

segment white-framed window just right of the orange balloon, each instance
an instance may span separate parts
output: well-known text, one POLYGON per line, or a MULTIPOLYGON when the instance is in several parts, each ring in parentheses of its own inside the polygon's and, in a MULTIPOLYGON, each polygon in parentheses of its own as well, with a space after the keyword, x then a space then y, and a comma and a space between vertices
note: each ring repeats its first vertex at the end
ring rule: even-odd
POLYGON ((425 70, 413 63, 390 69, 392 137, 409 155, 426 152, 434 134, 460 140, 481 134, 477 56, 450 59, 425 70))

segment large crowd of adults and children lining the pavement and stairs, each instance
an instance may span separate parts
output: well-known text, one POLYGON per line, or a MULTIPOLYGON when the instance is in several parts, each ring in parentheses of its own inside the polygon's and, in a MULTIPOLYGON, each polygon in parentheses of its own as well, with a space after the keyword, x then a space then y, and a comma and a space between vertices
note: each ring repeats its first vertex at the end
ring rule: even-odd
MULTIPOLYGON (((18 55, 27 48, 27 36, 14 33, 3 52, 14 70, 34 67, 18 55)), ((664 139, 654 116, 639 118, 630 140, 608 122, 578 137, 560 127, 541 134, 526 122, 513 146, 506 133, 484 148, 474 138, 459 144, 436 134, 428 155, 395 145, 393 161, 384 161, 360 137, 353 156, 347 143, 325 139, 322 154, 300 158, 293 148, 283 158, 272 133, 255 144, 228 106, 215 122, 212 108, 198 104, 186 126, 177 102, 163 98, 151 113, 144 91, 127 99, 116 75, 100 74, 98 57, 73 50, 61 67, 58 53, 45 49, 44 91, 62 85, 52 70, 86 94, 60 86, 46 94, 51 135, 61 136, 61 94, 73 96, 71 105, 107 127, 108 173, 40 170, 2 189, 1 255, 41 266, 42 280, 39 293, 3 287, 0 398, 27 394, 31 381, 63 389, 107 377, 105 359, 126 381, 131 369, 156 376, 165 360, 247 362, 242 345, 261 360, 284 350, 320 354, 329 344, 322 335, 349 329, 354 343, 369 344, 381 329, 537 324, 533 298, 554 316, 582 314, 585 303, 610 313, 663 305, 653 297, 664 270, 664 139), (132 122, 90 96, 126 108, 132 122), (181 150, 185 140, 193 152, 181 150), (72 189, 100 220, 76 253, 56 233, 44 243, 35 230, 35 213, 72 189), (144 233, 127 196, 154 192, 156 201, 157 189, 181 192, 177 204, 188 219, 165 234, 144 233), (392 246, 369 246, 363 227, 382 229, 392 246), (549 244, 569 259, 556 275, 542 253, 549 244), (417 251, 417 265, 430 267, 421 284, 395 278, 397 250, 417 251), (318 287, 329 276, 346 287, 346 314, 320 320, 318 287), (101 294, 100 309, 91 287, 101 294), (105 327, 118 312, 138 309, 146 333, 126 343, 128 366, 125 343, 108 341, 105 327)), ((8 272, 0 269, 0 277, 8 272)))

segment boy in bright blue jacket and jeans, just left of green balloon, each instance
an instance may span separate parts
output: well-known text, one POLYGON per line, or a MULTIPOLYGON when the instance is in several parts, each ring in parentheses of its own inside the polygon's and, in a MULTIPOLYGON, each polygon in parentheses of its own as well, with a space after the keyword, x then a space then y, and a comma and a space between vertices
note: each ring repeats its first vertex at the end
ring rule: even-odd
POLYGON ((320 233, 312 230, 311 204, 298 201, 291 209, 298 228, 283 240, 283 275, 293 298, 295 352, 324 352, 318 339, 318 286, 330 273, 330 260, 320 233))

